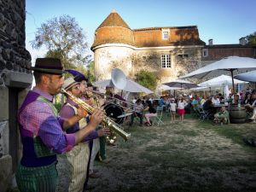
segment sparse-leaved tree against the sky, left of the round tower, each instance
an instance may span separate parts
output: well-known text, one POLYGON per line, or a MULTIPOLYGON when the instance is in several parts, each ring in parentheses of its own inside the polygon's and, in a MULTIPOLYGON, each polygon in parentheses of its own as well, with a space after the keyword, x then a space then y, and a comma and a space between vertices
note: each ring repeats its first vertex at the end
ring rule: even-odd
POLYGON ((54 17, 43 23, 31 42, 32 47, 39 49, 45 46, 48 49, 46 56, 61 59, 66 68, 75 68, 84 65, 89 55, 86 55, 88 44, 82 28, 69 15, 54 17))

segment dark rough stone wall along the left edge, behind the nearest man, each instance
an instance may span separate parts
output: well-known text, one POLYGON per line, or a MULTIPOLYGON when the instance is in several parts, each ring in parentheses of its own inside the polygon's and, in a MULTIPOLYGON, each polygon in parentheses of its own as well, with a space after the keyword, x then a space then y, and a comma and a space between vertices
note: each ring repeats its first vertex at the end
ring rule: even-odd
POLYGON ((16 114, 12 113, 19 106, 13 103, 20 104, 26 95, 25 88, 32 84, 32 73, 28 70, 31 55, 25 48, 25 4, 25 0, 0 0, 0 190, 3 192, 10 187, 20 156, 16 114))

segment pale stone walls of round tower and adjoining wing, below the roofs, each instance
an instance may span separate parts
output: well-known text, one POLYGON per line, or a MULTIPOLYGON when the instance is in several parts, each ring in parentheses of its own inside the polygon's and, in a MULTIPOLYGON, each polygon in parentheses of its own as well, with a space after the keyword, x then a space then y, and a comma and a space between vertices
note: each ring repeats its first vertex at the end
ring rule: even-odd
POLYGON ((97 80, 110 79, 113 68, 123 70, 131 79, 141 70, 155 73, 163 84, 201 67, 201 46, 183 46, 165 49, 136 49, 128 45, 108 44, 95 50, 97 80), (161 67, 161 55, 171 55, 171 68, 161 67))

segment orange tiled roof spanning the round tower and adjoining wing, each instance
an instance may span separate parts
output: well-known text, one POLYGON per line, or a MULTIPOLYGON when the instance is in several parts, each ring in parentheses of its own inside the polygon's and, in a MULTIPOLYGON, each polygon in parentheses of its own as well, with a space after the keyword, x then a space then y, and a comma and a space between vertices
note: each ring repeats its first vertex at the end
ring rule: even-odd
POLYGON ((129 44, 135 47, 160 47, 177 45, 205 45, 199 38, 197 26, 148 27, 131 30, 118 13, 113 11, 96 29, 91 49, 101 44, 129 44), (169 38, 162 38, 162 30, 169 38))

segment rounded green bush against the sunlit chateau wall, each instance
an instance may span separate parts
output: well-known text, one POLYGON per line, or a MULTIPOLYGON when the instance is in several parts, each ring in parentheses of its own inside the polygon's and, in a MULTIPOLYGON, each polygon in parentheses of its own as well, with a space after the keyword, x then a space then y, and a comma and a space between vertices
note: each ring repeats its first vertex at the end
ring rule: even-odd
POLYGON ((138 84, 142 84, 144 87, 147 87, 149 90, 155 90, 157 85, 157 78, 154 73, 141 70, 135 75, 135 77, 136 77, 135 81, 138 84))

